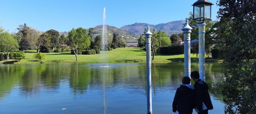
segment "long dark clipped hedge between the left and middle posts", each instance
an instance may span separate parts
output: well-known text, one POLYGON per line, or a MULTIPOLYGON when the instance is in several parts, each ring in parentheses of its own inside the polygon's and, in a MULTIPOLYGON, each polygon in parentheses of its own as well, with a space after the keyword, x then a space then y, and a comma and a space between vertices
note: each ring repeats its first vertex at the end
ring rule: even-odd
POLYGON ((174 45, 168 47, 160 47, 160 54, 178 55, 184 54, 183 45, 174 45))

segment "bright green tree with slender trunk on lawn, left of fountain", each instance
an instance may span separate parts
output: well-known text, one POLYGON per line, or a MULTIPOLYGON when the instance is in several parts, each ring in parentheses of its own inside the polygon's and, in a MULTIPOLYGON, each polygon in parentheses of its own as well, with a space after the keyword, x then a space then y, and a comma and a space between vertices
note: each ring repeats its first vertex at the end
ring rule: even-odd
POLYGON ((79 28, 72 28, 68 32, 68 40, 70 42, 70 47, 74 50, 76 61, 78 61, 77 58, 77 52, 78 48, 84 47, 87 48, 90 46, 90 39, 89 35, 86 32, 86 29, 79 27, 79 28))

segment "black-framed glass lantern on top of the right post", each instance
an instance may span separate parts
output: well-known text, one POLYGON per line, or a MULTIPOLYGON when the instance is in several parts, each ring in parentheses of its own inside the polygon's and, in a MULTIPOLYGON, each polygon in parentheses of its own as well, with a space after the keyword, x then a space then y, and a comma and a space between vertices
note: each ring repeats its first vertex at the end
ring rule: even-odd
POLYGON ((193 19, 197 21, 211 20, 212 3, 208 0, 198 0, 192 6, 193 19))

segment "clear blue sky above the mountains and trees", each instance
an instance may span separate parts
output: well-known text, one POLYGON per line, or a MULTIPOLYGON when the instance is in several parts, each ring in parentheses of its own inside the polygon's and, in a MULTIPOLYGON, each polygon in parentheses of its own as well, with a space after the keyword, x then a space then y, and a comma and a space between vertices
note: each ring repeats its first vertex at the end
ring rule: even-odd
MULTIPOLYGON (((217 0, 210 0, 212 20, 216 20, 217 0)), ((193 11, 196 0, 2 0, 0 26, 18 32, 18 25, 26 23, 40 31, 59 32, 71 28, 89 28, 102 24, 106 8, 106 24, 115 27, 135 22, 160 24, 184 20, 193 11)))

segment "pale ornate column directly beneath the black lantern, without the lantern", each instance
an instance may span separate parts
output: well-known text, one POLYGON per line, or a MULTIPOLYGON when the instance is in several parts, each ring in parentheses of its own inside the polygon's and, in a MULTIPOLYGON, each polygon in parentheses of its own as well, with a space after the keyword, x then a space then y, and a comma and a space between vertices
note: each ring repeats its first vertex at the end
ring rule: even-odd
POLYGON ((198 33, 199 33, 199 76, 202 81, 205 81, 205 50, 204 50, 204 42, 205 42, 205 23, 198 23, 198 33))

